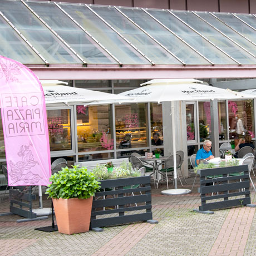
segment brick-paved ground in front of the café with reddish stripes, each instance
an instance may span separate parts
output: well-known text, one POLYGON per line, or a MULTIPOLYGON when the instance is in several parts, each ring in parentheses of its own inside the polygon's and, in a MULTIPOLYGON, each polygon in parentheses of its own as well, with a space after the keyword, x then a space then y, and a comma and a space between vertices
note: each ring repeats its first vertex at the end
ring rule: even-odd
MULTIPOLYGON (((186 188, 193 180, 188 179, 186 188)), ((178 196, 161 195, 164 189, 165 185, 152 189, 153 219, 159 224, 134 223, 104 228, 101 233, 65 235, 35 230, 51 225, 51 218, 17 223, 22 217, 0 216, 0 255, 256 255, 255 208, 199 214, 193 211, 200 205, 196 187, 192 194, 178 196)), ((49 207, 51 201, 43 199, 44 207, 49 207)), ((251 199, 256 203, 252 189, 251 199)), ((8 205, 6 196, 0 212, 7 212, 8 205)))

